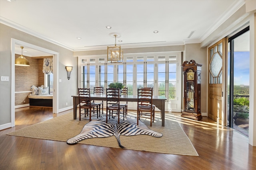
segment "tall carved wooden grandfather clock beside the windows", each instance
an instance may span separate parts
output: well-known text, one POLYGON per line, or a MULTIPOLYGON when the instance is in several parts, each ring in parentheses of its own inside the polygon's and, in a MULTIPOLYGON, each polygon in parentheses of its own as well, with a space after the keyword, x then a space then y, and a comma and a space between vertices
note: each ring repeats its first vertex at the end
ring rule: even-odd
POLYGON ((194 60, 184 61, 182 71, 184 75, 184 98, 181 116, 190 119, 202 119, 201 105, 201 68, 202 64, 194 60))

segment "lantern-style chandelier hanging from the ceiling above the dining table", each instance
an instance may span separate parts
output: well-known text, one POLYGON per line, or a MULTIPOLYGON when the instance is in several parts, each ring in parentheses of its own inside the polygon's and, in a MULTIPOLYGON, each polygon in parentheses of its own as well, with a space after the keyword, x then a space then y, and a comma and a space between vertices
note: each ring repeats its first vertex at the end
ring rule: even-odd
MULTIPOLYGON (((112 33, 113 34, 113 33, 112 33)), ((111 36, 111 34, 110 34, 111 36)), ((116 37, 118 34, 114 33, 115 37, 115 46, 108 46, 107 55, 108 55, 108 62, 110 63, 122 63, 124 59, 124 52, 120 45, 116 46, 116 37)))

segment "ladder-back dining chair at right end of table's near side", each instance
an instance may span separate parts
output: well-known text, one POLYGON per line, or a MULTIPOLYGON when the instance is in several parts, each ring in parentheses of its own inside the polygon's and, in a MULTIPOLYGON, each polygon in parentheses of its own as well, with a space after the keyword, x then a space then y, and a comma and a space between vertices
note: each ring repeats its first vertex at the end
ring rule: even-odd
POLYGON ((155 119, 155 106, 152 104, 153 88, 138 89, 137 125, 140 118, 150 118, 150 126, 155 119))

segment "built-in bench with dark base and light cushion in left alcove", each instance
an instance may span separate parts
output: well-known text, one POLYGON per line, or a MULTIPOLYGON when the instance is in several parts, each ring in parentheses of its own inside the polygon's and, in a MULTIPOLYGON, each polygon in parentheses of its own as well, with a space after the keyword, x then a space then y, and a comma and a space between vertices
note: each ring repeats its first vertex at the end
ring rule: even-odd
POLYGON ((52 95, 28 95, 29 106, 52 107, 52 95))

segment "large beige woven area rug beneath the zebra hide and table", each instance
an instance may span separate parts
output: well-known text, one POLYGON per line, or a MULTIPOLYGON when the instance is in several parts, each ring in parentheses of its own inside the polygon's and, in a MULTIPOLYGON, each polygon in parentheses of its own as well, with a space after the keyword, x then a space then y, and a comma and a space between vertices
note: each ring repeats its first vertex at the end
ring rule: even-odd
MULTIPOLYGON (((133 113, 129 114, 135 115, 133 113)), ((141 121, 153 131, 162 133, 163 136, 158 138, 150 135, 121 135, 120 141, 125 149, 198 156, 198 153, 194 149, 187 135, 181 129, 173 114, 168 113, 165 115, 165 127, 161 126, 162 121, 160 119, 160 115, 156 115, 155 121, 152 123, 152 127, 150 127, 150 121, 147 119, 141 119, 141 121)), ((74 120, 73 113, 67 113, 65 115, 54 117, 53 119, 8 133, 7 135, 66 142, 68 139, 78 135, 82 131, 84 125, 88 122, 89 121, 86 119, 82 119, 81 121, 79 121, 79 119, 74 120)), ((114 136, 85 139, 78 143, 120 148, 118 146, 118 141, 114 136)))

